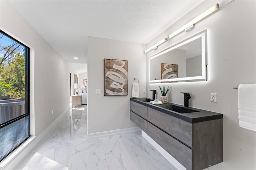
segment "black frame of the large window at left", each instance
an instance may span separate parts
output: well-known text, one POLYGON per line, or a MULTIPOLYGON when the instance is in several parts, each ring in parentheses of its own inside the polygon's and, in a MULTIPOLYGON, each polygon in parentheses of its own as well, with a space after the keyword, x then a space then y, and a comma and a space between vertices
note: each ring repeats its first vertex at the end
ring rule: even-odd
POLYGON ((6 32, 0 30, 1 34, 4 34, 4 36, 12 39, 13 41, 20 43, 22 46, 24 46, 25 50, 25 113, 24 115, 20 115, 19 117, 16 117, 10 121, 7 121, 5 123, 0 124, 0 129, 3 127, 6 127, 20 119, 23 119, 24 117, 28 116, 28 137, 26 137, 22 142, 14 146, 12 150, 7 152, 2 158, 0 158, 0 162, 4 160, 11 152, 13 152, 16 148, 18 148, 21 144, 23 144, 28 138, 30 138, 30 47, 25 45, 24 43, 21 43, 20 41, 16 40, 12 36, 8 35, 6 32))

